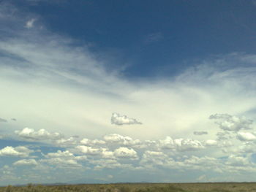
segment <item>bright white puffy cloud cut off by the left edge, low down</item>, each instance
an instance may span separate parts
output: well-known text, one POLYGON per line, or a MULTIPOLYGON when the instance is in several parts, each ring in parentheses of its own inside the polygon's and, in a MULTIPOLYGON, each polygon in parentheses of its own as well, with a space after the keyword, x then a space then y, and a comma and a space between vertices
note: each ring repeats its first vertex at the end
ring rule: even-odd
POLYGON ((7 146, 0 150, 0 156, 18 156, 18 157, 27 157, 29 153, 32 153, 33 150, 30 150, 24 146, 11 147, 7 146))

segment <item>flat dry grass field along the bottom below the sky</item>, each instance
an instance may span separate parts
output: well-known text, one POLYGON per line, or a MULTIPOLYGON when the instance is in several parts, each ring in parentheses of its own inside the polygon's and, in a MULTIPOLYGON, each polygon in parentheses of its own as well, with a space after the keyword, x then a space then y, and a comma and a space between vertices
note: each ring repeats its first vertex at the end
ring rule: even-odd
POLYGON ((256 192, 256 183, 125 183, 87 185, 26 185, 1 187, 0 192, 256 192))

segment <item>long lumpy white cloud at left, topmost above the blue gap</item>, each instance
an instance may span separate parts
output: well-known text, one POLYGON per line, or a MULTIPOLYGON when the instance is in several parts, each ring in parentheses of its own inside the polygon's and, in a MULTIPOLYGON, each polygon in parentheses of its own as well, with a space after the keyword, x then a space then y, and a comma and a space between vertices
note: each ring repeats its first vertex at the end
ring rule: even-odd
POLYGON ((61 139, 61 134, 59 133, 50 133, 45 129, 40 129, 39 131, 34 131, 33 128, 23 128, 21 131, 15 131, 19 137, 23 139, 31 139, 31 140, 55 140, 61 139))

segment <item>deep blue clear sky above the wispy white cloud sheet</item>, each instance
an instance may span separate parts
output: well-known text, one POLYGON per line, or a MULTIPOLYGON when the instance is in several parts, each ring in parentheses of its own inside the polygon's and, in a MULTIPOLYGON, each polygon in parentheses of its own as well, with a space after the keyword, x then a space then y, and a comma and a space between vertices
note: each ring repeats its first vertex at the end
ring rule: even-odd
POLYGON ((18 3, 51 31, 97 52, 118 50, 126 77, 173 75, 184 60, 254 53, 256 13, 251 1, 38 1, 18 3), (163 70, 165 69, 165 70, 163 70), (163 72, 162 72, 163 73, 163 72))

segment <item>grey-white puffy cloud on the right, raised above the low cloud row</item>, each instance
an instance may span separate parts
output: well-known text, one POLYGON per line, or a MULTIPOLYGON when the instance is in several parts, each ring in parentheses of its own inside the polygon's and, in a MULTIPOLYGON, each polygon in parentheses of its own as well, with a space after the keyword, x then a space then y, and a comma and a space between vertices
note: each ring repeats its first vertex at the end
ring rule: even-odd
POLYGON ((215 114, 209 117, 216 120, 215 123, 225 131, 239 131, 240 129, 251 129, 252 120, 245 117, 237 117, 228 114, 215 114))

